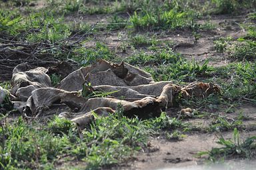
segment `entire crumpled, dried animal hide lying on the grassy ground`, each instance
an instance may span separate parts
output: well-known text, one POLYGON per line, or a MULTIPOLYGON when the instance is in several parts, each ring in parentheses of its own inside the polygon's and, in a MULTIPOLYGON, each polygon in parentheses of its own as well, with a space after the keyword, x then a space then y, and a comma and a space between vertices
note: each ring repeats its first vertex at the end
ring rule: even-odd
MULTIPOLYGON (((220 91, 211 83, 181 87, 171 81, 155 82, 149 73, 137 67, 105 60, 69 74, 58 67, 31 69, 22 63, 13 69, 12 83, 13 107, 26 117, 59 114, 81 128, 95 119, 94 113, 107 116, 120 106, 127 117, 147 119, 173 107, 178 96, 203 98, 220 91), (49 74, 58 70, 65 78, 52 87, 49 74)), ((7 95, 6 91, 1 89, 1 95, 7 95)))

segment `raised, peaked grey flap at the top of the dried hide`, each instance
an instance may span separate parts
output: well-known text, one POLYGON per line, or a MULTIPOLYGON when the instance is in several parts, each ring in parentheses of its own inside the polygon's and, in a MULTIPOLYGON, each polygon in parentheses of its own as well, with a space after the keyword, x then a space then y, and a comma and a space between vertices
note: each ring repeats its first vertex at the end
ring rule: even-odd
POLYGON ((93 86, 130 86, 147 84, 153 79, 149 73, 127 63, 122 62, 117 65, 105 60, 99 60, 91 66, 82 67, 69 74, 59 83, 58 88, 66 91, 79 91, 83 89, 85 81, 90 82, 93 86))

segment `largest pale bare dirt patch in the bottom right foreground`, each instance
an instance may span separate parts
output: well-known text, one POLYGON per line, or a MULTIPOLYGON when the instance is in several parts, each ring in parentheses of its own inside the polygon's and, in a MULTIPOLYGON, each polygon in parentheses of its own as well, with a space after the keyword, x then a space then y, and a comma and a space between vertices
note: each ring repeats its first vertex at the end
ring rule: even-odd
MULTIPOLYGON (((225 139, 231 139, 232 135, 231 132, 223 133, 225 139)), ((256 131, 241 133, 241 139, 253 135, 256 135, 256 131)), ((195 154, 219 147, 217 141, 218 138, 214 133, 195 133, 188 135, 182 141, 167 141, 161 137, 152 139, 150 143, 157 148, 157 151, 139 154, 137 161, 131 164, 131 169, 165 169, 202 165, 202 159, 195 157, 195 154)))

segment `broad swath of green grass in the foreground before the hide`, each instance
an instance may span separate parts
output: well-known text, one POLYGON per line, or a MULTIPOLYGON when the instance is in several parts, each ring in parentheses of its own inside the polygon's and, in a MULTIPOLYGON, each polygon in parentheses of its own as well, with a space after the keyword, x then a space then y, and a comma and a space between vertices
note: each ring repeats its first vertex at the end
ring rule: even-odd
MULTIPOLYGON (((165 113, 146 121, 128 119, 121 114, 119 111, 116 115, 97 118, 81 133, 71 121, 58 117, 46 124, 25 122, 19 117, 11 124, 1 125, 0 167, 53 168, 59 159, 67 156, 85 161, 87 169, 113 166, 145 148, 149 134, 183 127, 181 121, 165 113)), ((173 133, 178 135, 177 131, 173 133)))

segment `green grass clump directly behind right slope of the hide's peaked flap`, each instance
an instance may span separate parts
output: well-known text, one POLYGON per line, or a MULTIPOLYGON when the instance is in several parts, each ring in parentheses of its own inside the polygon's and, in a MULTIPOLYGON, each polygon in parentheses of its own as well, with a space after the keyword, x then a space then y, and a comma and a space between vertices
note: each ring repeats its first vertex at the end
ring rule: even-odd
POLYGON ((197 77, 207 77, 214 70, 205 61, 200 65, 196 61, 187 61, 172 49, 157 49, 153 54, 138 53, 127 57, 131 65, 143 66, 151 73, 155 81, 195 81, 197 77))

